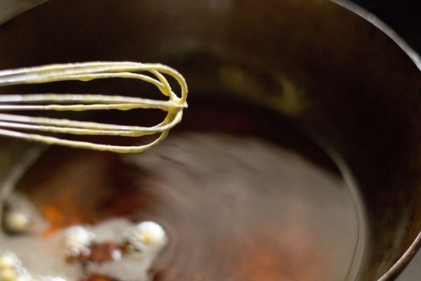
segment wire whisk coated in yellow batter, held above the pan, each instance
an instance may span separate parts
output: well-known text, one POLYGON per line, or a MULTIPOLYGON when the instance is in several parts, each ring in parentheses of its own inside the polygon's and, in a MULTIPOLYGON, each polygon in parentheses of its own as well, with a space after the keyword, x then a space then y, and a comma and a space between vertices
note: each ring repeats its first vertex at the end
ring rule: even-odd
POLYGON ((88 62, 25 67, 0 71, 0 86, 41 84, 54 81, 91 81, 105 78, 140 79, 153 84, 168 100, 107 96, 97 94, 37 93, 25 95, 0 95, 0 135, 23 138, 28 141, 65 145, 111 152, 142 152, 163 141, 170 129, 182 119, 187 107, 187 84, 184 77, 173 68, 161 64, 132 62, 88 62), (175 94, 165 75, 180 84, 180 96, 175 94), (154 126, 125 126, 101 122, 86 122, 51 117, 33 117, 6 114, 13 110, 133 110, 158 109, 167 112, 162 122, 154 126), (31 132, 31 133, 29 133, 31 132), (53 135, 49 133, 58 133, 53 135), (62 134, 140 137, 158 134, 151 143, 126 146, 91 143, 62 138, 62 134))

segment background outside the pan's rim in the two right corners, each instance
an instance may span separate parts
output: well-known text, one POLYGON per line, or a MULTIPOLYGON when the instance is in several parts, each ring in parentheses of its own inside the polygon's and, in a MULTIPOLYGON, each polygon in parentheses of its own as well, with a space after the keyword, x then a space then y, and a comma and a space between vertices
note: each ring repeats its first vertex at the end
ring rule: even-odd
MULTIPOLYGON (((353 0, 377 15, 421 54, 421 0, 353 0)), ((421 280, 421 249, 396 281, 421 280)))

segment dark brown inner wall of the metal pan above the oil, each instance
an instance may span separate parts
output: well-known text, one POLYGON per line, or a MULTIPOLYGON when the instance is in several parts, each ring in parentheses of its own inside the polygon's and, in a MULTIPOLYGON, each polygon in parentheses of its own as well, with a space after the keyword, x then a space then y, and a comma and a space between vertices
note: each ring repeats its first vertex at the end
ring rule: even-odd
MULTIPOLYGON (((279 110, 332 145, 361 188, 373 243, 360 280, 381 277, 420 231, 420 72, 392 39, 330 1, 52 0, 0 26, 0 54, 1 69, 166 63, 185 75, 190 106, 235 95, 279 110)), ((1 174, 24 145, 1 139, 1 174)))

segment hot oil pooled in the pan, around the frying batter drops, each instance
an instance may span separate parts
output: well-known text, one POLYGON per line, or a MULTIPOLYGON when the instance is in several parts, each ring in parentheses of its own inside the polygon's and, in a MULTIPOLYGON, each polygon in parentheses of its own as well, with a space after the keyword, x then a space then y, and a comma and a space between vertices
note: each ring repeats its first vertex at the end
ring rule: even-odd
MULTIPOLYGON (((189 105, 166 141, 143 154, 53 147, 41 155, 16 188, 49 223, 39 240, 111 218, 149 220, 168 235, 152 280, 353 280, 363 207, 343 167, 265 108, 189 105)), ((112 242, 107 253, 121 247, 112 242)), ((107 253, 95 262, 112 263, 107 253)), ((121 261, 121 278, 82 279, 147 280, 121 261)))

